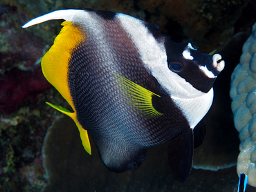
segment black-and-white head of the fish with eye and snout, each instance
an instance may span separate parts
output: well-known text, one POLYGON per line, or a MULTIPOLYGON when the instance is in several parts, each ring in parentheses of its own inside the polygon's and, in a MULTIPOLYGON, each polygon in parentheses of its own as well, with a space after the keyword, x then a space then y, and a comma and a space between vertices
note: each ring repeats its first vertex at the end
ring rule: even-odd
POLYGON ((166 63, 156 65, 152 74, 174 98, 192 99, 209 93, 225 66, 221 55, 199 52, 190 43, 175 43, 166 39, 165 50, 166 63))

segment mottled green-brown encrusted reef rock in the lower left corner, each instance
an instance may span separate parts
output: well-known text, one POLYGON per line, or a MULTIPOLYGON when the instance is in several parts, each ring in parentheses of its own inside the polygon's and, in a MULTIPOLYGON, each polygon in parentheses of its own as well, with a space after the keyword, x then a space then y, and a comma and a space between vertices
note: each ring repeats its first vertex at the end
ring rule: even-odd
POLYGON ((46 100, 63 102, 60 94, 51 89, 37 95, 29 106, 0 117, 0 186, 3 191, 40 191, 44 187, 46 180, 39 160, 46 129, 57 115, 45 104, 46 100), (37 175, 34 185, 33 175, 37 175))

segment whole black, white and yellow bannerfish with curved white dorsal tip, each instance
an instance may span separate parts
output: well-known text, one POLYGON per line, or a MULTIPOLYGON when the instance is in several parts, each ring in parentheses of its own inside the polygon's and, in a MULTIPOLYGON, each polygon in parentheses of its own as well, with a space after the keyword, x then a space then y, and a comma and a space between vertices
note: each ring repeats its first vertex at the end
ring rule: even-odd
POLYGON ((65 21, 42 72, 73 112, 49 105, 74 120, 84 149, 91 154, 89 133, 102 162, 121 173, 138 169, 147 148, 170 142, 170 169, 185 182, 205 135, 201 119, 212 104, 212 84, 224 68, 221 55, 110 11, 57 10, 23 28, 52 19, 65 21))

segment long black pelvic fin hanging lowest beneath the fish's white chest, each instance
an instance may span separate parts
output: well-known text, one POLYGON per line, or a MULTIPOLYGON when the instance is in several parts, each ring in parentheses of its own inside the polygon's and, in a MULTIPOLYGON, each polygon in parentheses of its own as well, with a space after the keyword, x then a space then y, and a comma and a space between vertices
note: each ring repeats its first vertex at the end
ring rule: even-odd
POLYGON ((193 130, 182 133, 168 145, 168 162, 172 174, 179 182, 185 182, 190 174, 194 150, 193 130))

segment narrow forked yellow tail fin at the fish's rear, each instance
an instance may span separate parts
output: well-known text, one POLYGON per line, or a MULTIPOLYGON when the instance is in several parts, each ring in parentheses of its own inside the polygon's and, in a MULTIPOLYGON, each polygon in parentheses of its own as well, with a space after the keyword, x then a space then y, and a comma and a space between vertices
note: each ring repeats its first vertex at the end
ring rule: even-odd
POLYGON ((81 124, 77 121, 75 113, 72 113, 72 112, 68 111, 66 108, 63 108, 62 106, 56 106, 56 105, 50 104, 48 102, 46 102, 46 104, 48 104, 49 106, 57 109, 57 111, 60 111, 60 112, 64 113, 65 115, 68 115, 69 117, 71 117, 74 120, 74 122, 75 122, 75 124, 76 124, 76 126, 77 126, 77 128, 80 132, 82 145, 84 146, 85 151, 91 155, 91 144, 90 144, 90 140, 89 140, 89 137, 88 137, 87 130, 82 128, 81 124))

